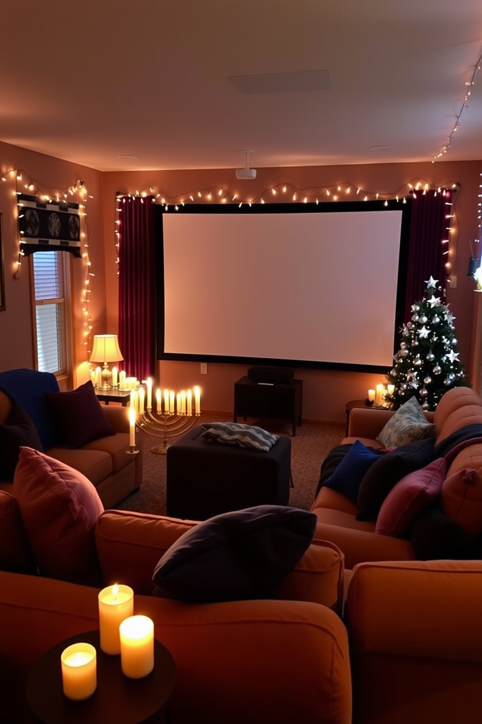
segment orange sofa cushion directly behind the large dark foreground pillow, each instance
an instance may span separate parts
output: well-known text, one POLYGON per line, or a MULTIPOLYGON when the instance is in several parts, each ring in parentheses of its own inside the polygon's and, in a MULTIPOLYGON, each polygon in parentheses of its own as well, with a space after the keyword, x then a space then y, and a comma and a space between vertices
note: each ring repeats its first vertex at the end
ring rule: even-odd
MULTIPOLYGON (((106 584, 123 583, 138 594, 152 594, 152 575, 160 557, 196 521, 163 515, 106 510, 98 518, 95 541, 106 584)), ((272 592, 273 599, 310 601, 337 613, 343 605, 343 554, 327 541, 311 544, 291 573, 272 592)))

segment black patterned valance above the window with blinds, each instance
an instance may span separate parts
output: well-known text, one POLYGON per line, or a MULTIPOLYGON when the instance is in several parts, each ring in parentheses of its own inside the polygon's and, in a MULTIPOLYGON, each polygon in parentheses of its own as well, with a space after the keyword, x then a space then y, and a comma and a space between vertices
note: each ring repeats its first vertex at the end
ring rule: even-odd
POLYGON ((40 201, 37 196, 18 195, 20 250, 27 256, 34 251, 80 253, 79 204, 66 201, 40 201))

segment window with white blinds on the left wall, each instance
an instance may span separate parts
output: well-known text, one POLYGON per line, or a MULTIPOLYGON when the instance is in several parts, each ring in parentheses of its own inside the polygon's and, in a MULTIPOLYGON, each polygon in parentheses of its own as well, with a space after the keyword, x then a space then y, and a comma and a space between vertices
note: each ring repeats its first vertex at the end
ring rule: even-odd
POLYGON ((32 255, 37 369, 69 374, 69 261, 64 251, 32 255))

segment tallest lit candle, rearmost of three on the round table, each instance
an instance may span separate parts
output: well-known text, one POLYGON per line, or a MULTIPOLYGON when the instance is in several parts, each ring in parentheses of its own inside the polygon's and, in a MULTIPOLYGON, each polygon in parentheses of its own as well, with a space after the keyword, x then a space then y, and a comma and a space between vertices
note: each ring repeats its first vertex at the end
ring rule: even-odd
POLYGON ((134 591, 114 584, 102 589, 99 599, 100 648, 105 654, 120 654, 119 625, 134 613, 134 591))

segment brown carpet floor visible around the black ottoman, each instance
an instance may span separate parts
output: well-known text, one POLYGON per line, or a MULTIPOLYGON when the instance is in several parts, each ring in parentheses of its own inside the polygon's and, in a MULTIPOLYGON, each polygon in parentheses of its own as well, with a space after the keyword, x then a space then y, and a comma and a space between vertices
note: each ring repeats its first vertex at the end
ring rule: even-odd
MULTIPOLYGON (((197 424, 212 421, 231 421, 231 418, 202 415, 197 424)), ((247 424, 259 425, 270 432, 290 437, 291 424, 283 421, 265 421, 247 419, 247 424)), ((303 423, 296 428, 296 436, 291 437, 291 473, 294 487, 291 489, 288 505, 309 510, 317 490, 319 471, 322 461, 339 445, 345 436, 344 426, 327 426, 303 423)), ((177 439, 177 438, 176 438, 177 439)), ((142 445, 144 453, 142 486, 137 492, 126 497, 119 510, 135 510, 138 513, 165 515, 165 455, 152 452, 151 448, 160 444, 160 438, 146 432, 138 432, 137 445, 142 445)))

